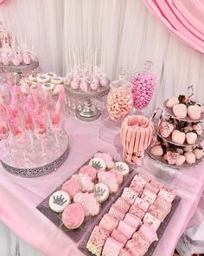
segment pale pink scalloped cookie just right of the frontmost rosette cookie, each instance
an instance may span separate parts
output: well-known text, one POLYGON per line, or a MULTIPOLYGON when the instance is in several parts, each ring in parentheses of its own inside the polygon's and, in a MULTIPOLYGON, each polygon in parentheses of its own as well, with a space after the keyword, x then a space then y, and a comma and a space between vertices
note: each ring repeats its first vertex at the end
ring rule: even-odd
POLYGON ((100 205, 93 194, 75 194, 73 197, 73 201, 82 205, 82 207, 84 208, 85 216, 95 216, 99 214, 100 205))

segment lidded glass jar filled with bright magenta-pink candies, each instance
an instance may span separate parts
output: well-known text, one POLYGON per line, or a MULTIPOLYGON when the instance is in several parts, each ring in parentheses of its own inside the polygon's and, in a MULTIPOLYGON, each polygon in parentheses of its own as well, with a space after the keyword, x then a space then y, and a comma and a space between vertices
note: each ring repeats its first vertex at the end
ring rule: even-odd
POLYGON ((143 69, 131 78, 133 104, 137 109, 146 108, 154 93, 156 76, 151 73, 152 65, 152 62, 146 61, 143 69))

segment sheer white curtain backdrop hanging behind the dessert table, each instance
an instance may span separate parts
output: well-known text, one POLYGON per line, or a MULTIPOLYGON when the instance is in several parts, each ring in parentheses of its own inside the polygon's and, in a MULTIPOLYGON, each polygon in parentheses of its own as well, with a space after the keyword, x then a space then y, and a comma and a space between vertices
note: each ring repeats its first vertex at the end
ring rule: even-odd
MULTIPOLYGON (((151 60, 158 78, 152 109, 185 93, 192 83, 196 98, 204 102, 204 56, 176 39, 142 0, 6 0, 0 5, 0 21, 20 42, 35 45, 42 71, 65 75, 68 49, 89 46, 105 50, 110 79, 120 67, 132 71, 151 60)), ((0 233, 1 255, 11 255, 12 236, 4 226, 0 233)), ((40 254, 22 249, 21 255, 40 254)))

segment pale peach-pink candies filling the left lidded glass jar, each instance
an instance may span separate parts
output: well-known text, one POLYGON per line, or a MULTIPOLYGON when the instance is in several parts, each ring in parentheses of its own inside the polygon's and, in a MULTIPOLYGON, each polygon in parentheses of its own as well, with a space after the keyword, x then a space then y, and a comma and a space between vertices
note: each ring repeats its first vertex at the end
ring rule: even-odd
POLYGON ((131 93, 124 88, 112 89, 107 97, 107 110, 113 120, 124 120, 132 108, 131 93))

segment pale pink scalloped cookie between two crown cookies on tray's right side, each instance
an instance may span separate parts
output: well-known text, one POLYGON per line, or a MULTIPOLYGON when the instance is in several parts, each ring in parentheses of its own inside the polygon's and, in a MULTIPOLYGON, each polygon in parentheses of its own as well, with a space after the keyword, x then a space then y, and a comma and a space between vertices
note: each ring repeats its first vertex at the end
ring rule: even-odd
POLYGON ((111 193, 118 192, 118 181, 114 174, 110 172, 100 171, 98 174, 99 183, 104 183, 111 193))

